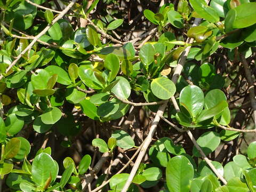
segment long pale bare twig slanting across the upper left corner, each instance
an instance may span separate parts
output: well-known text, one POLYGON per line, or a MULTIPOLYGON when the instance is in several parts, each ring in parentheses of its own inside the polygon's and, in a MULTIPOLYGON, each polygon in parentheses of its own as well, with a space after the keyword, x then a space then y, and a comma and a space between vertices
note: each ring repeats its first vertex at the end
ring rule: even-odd
MULTIPOLYGON (((68 4, 68 6, 55 18, 52 20, 52 23, 50 23, 49 25, 47 25, 37 36, 35 36, 35 38, 33 39, 33 41, 18 55, 17 59, 15 59, 11 65, 9 65, 9 67, 5 70, 5 73, 7 74, 9 70, 11 70, 11 68, 20 60, 20 58, 22 57, 23 54, 25 54, 29 49, 31 49, 31 47, 33 47, 33 45, 37 42, 37 40, 43 36, 47 30, 50 29, 50 27, 52 25, 54 25, 55 22, 57 22, 58 20, 60 20, 63 15, 65 15, 68 10, 71 9, 71 7, 75 4, 77 0, 72 0, 71 3, 68 4)), ((3 74, 0 75, 0 80, 3 78, 3 74)))

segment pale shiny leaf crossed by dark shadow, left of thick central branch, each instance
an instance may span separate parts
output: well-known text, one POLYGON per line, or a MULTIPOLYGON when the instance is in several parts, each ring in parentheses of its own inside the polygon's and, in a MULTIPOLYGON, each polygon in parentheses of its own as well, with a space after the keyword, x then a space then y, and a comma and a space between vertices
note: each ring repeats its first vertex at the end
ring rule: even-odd
POLYGON ((131 149, 135 143, 131 136, 123 130, 116 130, 111 134, 111 137, 116 138, 116 145, 122 149, 131 149))

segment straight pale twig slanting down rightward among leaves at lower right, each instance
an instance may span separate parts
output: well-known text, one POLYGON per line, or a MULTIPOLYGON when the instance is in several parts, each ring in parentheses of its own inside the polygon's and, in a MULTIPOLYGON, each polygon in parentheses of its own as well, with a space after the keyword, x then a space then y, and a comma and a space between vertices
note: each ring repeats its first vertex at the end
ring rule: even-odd
POLYGON ((212 164, 212 162, 210 161, 209 158, 206 157, 206 155, 204 154, 203 150, 201 149, 200 146, 198 146, 195 138, 193 137, 193 134, 190 132, 190 130, 187 130, 187 134, 188 137, 191 139, 191 141, 193 142, 193 144, 195 145, 195 147, 197 148, 197 150, 199 151, 199 153, 202 155, 204 161, 211 167, 212 171, 217 175, 218 178, 220 178, 220 180, 227 185, 227 181, 222 177, 222 175, 218 172, 218 170, 214 167, 214 165, 212 164))

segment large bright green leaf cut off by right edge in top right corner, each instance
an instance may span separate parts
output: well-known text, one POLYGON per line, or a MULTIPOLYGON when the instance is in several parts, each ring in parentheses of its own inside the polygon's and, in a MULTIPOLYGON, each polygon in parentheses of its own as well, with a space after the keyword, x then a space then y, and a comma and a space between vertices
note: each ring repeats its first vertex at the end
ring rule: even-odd
POLYGON ((234 28, 245 28, 256 23, 256 2, 241 4, 235 7, 236 18, 233 22, 234 28))

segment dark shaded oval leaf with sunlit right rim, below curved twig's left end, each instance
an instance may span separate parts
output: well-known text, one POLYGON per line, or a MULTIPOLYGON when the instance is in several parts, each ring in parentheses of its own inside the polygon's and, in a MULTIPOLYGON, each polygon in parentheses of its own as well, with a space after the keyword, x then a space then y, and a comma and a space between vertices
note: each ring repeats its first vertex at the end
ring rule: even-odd
POLYGON ((98 109, 97 109, 97 114, 100 117, 108 117, 112 114, 115 114, 116 111, 118 110, 118 103, 116 102, 111 102, 107 101, 105 103, 102 103, 98 109))

